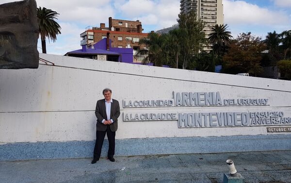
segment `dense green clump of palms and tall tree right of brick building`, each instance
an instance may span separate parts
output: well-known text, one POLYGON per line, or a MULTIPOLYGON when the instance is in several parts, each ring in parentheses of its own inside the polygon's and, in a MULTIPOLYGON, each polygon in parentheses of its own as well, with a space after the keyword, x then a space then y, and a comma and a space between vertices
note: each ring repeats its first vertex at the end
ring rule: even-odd
POLYGON ((189 68, 189 64, 190 68, 195 66, 194 58, 198 57, 202 45, 207 43, 203 32, 204 24, 197 20, 194 12, 180 14, 178 23, 179 28, 168 34, 149 33, 147 38, 140 40, 140 44, 147 47, 147 50, 140 50, 138 53, 148 54, 143 60, 144 64, 169 65, 183 69, 189 68))

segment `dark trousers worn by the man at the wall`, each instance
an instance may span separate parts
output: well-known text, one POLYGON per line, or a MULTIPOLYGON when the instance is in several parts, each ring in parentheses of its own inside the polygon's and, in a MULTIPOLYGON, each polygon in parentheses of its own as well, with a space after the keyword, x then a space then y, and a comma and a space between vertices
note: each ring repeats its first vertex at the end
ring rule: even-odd
POLYGON ((115 132, 111 132, 109 125, 104 132, 96 131, 96 143, 94 148, 94 158, 99 158, 101 155, 101 149, 104 141, 105 134, 107 133, 107 138, 109 142, 109 148, 107 157, 113 157, 115 151, 115 132))

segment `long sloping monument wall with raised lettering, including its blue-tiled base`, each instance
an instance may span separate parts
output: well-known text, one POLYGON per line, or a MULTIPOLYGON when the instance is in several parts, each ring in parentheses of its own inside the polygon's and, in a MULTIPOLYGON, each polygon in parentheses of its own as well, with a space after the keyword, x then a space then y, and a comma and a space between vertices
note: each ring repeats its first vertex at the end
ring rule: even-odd
POLYGON ((92 157, 105 87, 121 107, 117 156, 291 149, 290 81, 40 58, 55 66, 0 70, 0 160, 92 157))

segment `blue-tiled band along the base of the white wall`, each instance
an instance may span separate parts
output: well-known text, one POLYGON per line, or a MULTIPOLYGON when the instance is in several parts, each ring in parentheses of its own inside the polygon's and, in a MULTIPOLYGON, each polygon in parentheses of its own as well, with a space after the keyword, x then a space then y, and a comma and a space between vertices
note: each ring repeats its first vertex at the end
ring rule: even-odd
MULTIPOLYGON (((116 156, 291 150, 291 134, 169 137, 116 140, 116 156)), ((9 143, 0 161, 92 157, 95 141, 9 143)), ((105 140, 101 156, 105 157, 105 140)))

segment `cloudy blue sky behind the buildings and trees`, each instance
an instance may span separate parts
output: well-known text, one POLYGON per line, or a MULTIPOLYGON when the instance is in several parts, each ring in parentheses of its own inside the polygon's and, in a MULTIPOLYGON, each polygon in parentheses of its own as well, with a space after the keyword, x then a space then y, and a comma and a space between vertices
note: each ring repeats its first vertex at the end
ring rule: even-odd
MULTIPOLYGON (((0 4, 16 0, 0 0, 0 4)), ((37 7, 46 7, 60 15, 62 27, 56 42, 47 40, 47 53, 64 55, 81 49, 80 34, 88 26, 108 27, 108 17, 140 20, 144 33, 177 23, 180 0, 36 0, 37 7)), ((222 0, 224 23, 234 37, 251 32, 262 39, 267 33, 291 30, 291 0, 222 0)), ((40 40, 38 51, 41 50, 40 40)))

